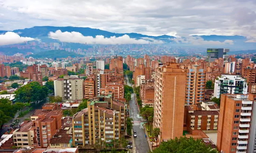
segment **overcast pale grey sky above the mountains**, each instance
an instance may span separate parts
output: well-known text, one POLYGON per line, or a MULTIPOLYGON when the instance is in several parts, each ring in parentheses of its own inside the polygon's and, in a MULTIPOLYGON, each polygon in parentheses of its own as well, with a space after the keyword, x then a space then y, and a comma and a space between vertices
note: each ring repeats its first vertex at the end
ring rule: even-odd
POLYGON ((0 30, 90 27, 146 35, 243 35, 256 41, 256 0, 0 0, 0 30))

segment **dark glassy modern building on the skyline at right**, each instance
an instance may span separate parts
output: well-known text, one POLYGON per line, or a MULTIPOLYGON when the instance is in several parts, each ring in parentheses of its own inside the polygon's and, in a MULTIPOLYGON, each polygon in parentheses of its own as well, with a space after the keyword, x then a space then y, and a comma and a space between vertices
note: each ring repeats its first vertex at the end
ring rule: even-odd
POLYGON ((225 61, 227 61, 228 60, 228 55, 227 55, 228 52, 229 52, 229 49, 208 48, 206 62, 214 62, 218 58, 224 58, 225 61))

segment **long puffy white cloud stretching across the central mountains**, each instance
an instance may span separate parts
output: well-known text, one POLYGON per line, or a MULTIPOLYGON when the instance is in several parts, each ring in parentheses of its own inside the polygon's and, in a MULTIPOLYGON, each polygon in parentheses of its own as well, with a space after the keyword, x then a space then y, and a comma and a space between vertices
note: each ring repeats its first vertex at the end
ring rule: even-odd
POLYGON ((102 35, 97 35, 95 38, 92 36, 84 36, 79 32, 62 32, 57 30, 56 32, 50 32, 49 38, 58 39, 62 42, 67 43, 80 43, 80 44, 162 44, 163 41, 155 40, 152 38, 145 39, 134 39, 130 38, 128 35, 123 35, 120 37, 112 36, 110 38, 106 38, 102 35), (148 41, 151 40, 151 41, 148 41))

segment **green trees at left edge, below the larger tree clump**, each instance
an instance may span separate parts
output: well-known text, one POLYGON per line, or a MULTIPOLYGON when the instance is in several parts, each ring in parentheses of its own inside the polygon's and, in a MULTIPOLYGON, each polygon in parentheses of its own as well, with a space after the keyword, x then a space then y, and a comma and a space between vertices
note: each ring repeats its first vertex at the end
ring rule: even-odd
POLYGON ((0 99, 0 127, 14 118, 15 114, 25 106, 25 103, 16 102, 12 104, 9 99, 0 99))

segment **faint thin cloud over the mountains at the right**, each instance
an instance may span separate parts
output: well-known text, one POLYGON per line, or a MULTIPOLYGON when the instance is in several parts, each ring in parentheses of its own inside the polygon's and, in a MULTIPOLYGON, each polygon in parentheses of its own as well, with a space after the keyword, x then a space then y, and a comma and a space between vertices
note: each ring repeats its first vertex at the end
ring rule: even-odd
POLYGON ((233 40, 225 40, 221 41, 208 41, 204 40, 202 37, 199 36, 189 36, 189 37, 177 37, 172 38, 171 40, 175 41, 176 43, 185 43, 185 44, 192 44, 192 45, 233 45, 233 40))

